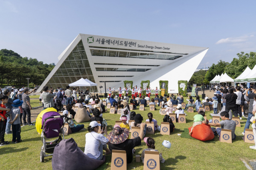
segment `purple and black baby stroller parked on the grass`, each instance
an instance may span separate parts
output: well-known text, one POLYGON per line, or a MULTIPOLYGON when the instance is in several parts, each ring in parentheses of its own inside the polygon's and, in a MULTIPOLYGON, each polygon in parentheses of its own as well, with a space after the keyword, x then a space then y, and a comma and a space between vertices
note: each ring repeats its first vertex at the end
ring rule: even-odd
POLYGON ((65 117, 65 121, 67 116, 66 115, 60 115, 60 113, 56 111, 50 111, 47 113, 44 113, 42 117, 42 133, 41 133, 41 139, 43 146, 41 148, 40 152, 40 161, 44 162, 44 157, 51 156, 53 154, 46 154, 47 153, 53 153, 54 148, 60 141, 62 141, 62 135, 64 139, 64 134, 63 134, 63 127, 64 127, 64 122, 63 122, 63 117, 65 117), (50 139, 58 137, 58 139, 55 139, 53 141, 46 141, 45 138, 50 139))

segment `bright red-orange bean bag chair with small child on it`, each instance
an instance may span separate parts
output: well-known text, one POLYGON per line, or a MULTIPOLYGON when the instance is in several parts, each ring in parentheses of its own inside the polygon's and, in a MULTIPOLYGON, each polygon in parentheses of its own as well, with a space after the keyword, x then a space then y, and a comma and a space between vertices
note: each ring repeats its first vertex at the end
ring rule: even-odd
MULTIPOLYGON (((188 128, 189 132, 191 131, 191 128, 192 126, 188 128)), ((199 141, 210 141, 214 139, 214 134, 210 125, 202 124, 194 127, 191 137, 198 139, 199 141)))

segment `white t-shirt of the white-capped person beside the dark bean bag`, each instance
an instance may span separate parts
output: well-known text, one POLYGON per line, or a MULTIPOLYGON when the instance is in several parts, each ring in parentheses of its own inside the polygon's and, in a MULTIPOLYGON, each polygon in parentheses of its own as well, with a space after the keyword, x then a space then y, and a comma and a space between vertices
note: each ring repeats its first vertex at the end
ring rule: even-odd
POLYGON ((100 156, 100 144, 108 143, 108 139, 100 133, 94 131, 86 133, 84 153, 90 158, 96 159, 100 156))

